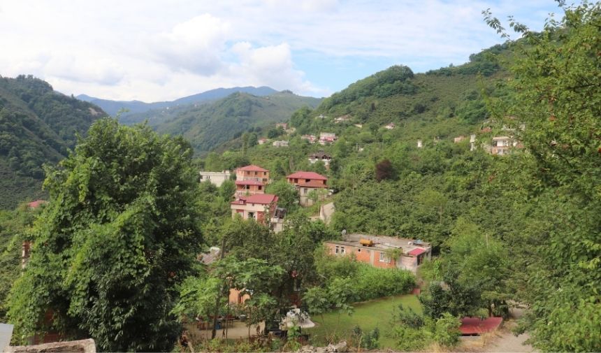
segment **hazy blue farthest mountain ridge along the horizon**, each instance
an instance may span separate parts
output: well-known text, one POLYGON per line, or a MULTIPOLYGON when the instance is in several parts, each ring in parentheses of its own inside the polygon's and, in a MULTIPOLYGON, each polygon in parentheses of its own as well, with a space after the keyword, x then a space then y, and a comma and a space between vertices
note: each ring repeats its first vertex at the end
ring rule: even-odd
POLYGON ((211 89, 207 92, 193 94, 191 96, 185 96, 180 99, 175 99, 175 101, 161 101, 154 103, 145 103, 143 101, 111 101, 109 99, 100 99, 88 96, 87 94, 80 94, 76 98, 82 101, 94 103, 96 104, 96 106, 101 107, 104 111, 106 111, 112 116, 117 115, 117 112, 119 112, 119 110, 126 109, 128 111, 122 114, 122 117, 124 117, 131 114, 144 113, 152 109, 163 109, 167 107, 176 107, 186 104, 205 103, 207 101, 214 101, 216 99, 222 99, 226 96, 229 96, 234 92, 245 92, 248 94, 253 94, 255 96, 267 96, 268 94, 274 94, 277 91, 273 88, 265 86, 217 88, 211 89))

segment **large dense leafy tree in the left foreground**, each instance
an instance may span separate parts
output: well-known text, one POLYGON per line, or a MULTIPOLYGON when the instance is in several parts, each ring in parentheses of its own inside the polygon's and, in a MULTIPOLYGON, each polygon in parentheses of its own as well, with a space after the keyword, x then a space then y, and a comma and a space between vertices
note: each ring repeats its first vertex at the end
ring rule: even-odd
POLYGON ((54 330, 102 350, 170 350, 175 285, 202 240, 190 146, 99 120, 45 186, 50 202, 10 296, 17 337, 54 330))

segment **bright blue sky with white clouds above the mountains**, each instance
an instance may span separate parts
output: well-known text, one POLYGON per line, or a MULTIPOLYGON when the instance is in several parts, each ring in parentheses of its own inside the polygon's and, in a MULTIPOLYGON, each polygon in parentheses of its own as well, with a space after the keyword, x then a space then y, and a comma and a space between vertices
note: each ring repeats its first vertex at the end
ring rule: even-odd
POLYGON ((482 10, 540 30, 552 0, 0 0, 0 75, 64 94, 169 101, 269 86, 328 96, 395 64, 463 64, 503 40, 482 10))

